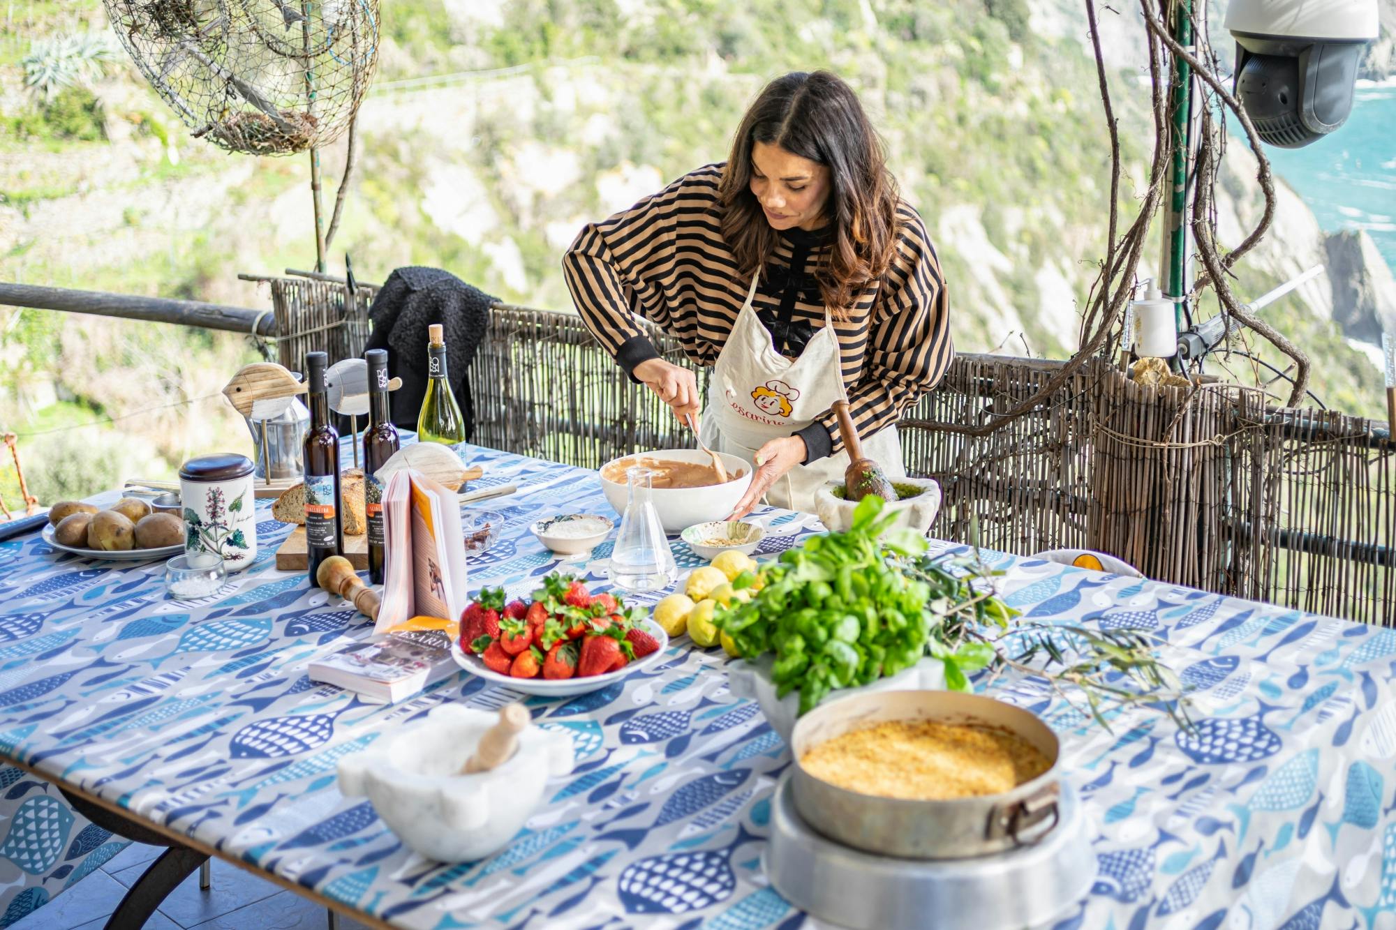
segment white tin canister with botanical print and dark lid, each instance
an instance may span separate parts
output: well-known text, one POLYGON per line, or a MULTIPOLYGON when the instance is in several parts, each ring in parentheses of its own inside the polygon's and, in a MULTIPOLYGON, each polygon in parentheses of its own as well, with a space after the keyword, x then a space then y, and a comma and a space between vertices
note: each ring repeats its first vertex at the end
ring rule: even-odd
POLYGON ((226 571, 242 571, 257 556, 257 500, 253 461, 246 455, 201 455, 179 469, 184 511, 184 552, 223 557, 226 571))

